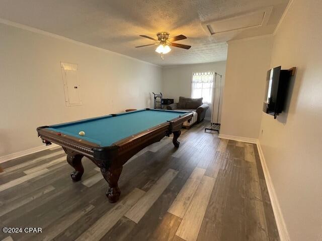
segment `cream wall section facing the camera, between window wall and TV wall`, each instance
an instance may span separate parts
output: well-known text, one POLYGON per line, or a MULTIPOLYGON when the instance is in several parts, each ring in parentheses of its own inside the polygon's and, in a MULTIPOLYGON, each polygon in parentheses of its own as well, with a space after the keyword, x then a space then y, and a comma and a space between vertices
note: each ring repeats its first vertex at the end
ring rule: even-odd
POLYGON ((272 37, 228 42, 220 135, 258 138, 272 37))

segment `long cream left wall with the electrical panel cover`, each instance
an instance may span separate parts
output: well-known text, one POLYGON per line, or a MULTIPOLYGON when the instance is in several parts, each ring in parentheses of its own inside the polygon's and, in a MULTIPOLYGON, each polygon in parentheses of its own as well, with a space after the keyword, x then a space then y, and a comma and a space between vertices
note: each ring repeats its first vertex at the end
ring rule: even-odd
POLYGON ((0 24, 0 157, 41 146, 36 128, 150 107, 162 68, 0 24), (82 106, 65 106, 60 61, 78 64, 82 106))

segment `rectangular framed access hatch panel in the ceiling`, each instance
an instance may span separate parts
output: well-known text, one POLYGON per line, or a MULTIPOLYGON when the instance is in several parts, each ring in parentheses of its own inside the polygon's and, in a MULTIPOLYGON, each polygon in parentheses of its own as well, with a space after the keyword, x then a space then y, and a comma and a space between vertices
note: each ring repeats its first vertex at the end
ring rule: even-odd
POLYGON ((273 6, 253 12, 215 19, 203 22, 202 27, 206 32, 210 33, 210 35, 258 28, 267 24, 272 10, 273 6))

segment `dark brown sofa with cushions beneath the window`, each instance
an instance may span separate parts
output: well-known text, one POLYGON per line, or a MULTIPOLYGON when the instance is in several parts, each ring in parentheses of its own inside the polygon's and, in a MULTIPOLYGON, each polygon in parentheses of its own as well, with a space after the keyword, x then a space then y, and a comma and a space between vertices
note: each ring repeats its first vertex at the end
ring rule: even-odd
POLYGON ((188 97, 179 97, 178 103, 173 103, 167 105, 169 110, 190 110, 197 113, 196 122, 202 122, 205 118, 207 109, 209 108, 208 104, 202 103, 202 98, 188 98, 188 97))

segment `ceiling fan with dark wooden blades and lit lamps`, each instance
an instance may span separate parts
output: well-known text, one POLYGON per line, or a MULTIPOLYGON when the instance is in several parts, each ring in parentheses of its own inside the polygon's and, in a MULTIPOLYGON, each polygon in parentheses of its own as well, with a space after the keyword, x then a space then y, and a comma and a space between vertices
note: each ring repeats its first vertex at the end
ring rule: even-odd
POLYGON ((154 44, 146 44, 146 45, 141 45, 141 46, 136 46, 135 48, 140 48, 140 47, 145 47, 145 46, 150 46, 150 45, 159 45, 156 49, 155 52, 161 54, 161 58, 162 60, 164 60, 164 54, 167 54, 171 51, 170 46, 174 46, 174 47, 178 47, 178 48, 182 48, 182 49, 190 49, 191 46, 190 45, 185 45, 185 44, 177 44, 177 43, 173 43, 174 41, 178 41, 178 40, 183 40, 186 39, 187 37, 184 35, 178 35, 176 37, 172 37, 169 38, 169 33, 167 32, 159 32, 156 34, 157 39, 151 38, 149 36, 146 35, 140 35, 143 38, 148 38, 151 39, 153 41, 155 41, 154 44))

